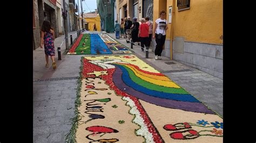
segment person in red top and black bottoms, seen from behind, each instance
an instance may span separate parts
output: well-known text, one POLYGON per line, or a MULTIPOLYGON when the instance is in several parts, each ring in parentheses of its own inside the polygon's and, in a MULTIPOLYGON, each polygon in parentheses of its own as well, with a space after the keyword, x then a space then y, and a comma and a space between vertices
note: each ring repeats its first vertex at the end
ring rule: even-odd
MULTIPOLYGON (((142 47, 142 52, 144 52, 144 45, 146 47, 149 47, 149 25, 146 24, 146 20, 145 18, 142 18, 142 20, 140 20, 140 22, 142 22, 142 24, 139 25, 139 34, 138 37, 140 39, 140 44, 142 47)), ((148 49, 148 48, 146 48, 148 49)))

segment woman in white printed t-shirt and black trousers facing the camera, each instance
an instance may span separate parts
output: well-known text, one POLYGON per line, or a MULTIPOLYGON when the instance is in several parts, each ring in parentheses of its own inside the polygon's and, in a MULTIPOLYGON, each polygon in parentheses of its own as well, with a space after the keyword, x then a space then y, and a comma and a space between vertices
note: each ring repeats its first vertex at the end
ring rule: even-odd
POLYGON ((163 46, 165 43, 166 30, 168 29, 165 17, 166 12, 164 10, 160 11, 160 18, 156 20, 156 26, 154 26, 153 39, 156 38, 156 49, 154 50, 154 55, 156 55, 156 60, 161 60, 161 53, 163 52, 163 46))

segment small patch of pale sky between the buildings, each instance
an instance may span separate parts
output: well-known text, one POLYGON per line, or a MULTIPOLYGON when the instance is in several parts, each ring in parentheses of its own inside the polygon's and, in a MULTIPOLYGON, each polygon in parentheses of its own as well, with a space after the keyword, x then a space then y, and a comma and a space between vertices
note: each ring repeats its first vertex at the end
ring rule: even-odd
MULTIPOLYGON (((77 1, 79 2, 79 8, 78 8, 79 13, 81 13, 82 10, 81 10, 80 0, 75 0, 76 4, 77 4, 77 1)), ((97 0, 85 0, 85 1, 82 1, 82 3, 83 3, 84 13, 92 12, 92 11, 95 11, 95 9, 97 9, 97 0)), ((76 14, 78 15, 78 12, 76 12, 76 14)))

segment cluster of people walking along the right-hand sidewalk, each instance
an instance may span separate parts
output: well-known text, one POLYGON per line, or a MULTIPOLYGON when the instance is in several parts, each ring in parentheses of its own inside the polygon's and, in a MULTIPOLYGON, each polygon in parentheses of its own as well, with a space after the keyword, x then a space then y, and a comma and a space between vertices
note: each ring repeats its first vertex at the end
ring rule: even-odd
POLYGON ((166 38, 166 30, 168 29, 167 21, 165 19, 166 12, 164 10, 160 11, 160 18, 155 22, 153 29, 153 23, 149 20, 149 17, 142 18, 140 23, 137 22, 137 18, 133 18, 133 22, 130 17, 122 18, 120 24, 116 20, 114 29, 116 32, 116 39, 122 38, 122 35, 129 43, 130 39, 132 42, 140 42, 141 49, 144 52, 144 47, 148 49, 152 39, 156 39, 156 49, 154 51, 155 59, 161 60, 161 53, 163 51, 163 46, 166 38))

